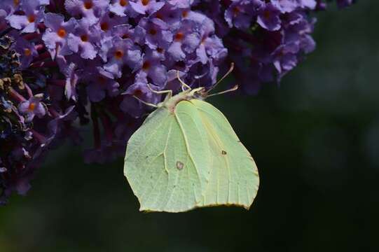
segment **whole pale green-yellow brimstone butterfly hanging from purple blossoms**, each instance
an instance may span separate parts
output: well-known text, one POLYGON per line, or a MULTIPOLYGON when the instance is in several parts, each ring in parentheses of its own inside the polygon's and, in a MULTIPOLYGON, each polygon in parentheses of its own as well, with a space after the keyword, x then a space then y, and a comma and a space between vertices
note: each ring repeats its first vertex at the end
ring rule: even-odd
POLYGON ((174 96, 158 92, 167 93, 165 100, 128 141, 124 174, 139 210, 249 209, 259 187, 253 158, 225 116, 202 100, 205 88, 181 83, 183 92, 174 96))

